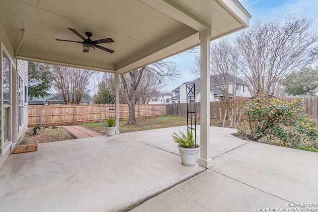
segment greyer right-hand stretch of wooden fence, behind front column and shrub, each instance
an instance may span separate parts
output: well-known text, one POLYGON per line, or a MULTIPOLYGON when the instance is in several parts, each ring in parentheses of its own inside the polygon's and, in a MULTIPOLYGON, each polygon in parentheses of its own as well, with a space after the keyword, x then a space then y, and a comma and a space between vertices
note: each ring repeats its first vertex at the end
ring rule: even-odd
MULTIPOLYGON (((296 98, 282 98, 288 102, 294 101, 296 98)), ((251 100, 238 100, 236 101, 235 109, 243 109, 246 101, 251 100)), ((192 103, 194 104, 194 103, 192 103)), ((195 103, 196 115, 200 117, 200 102, 195 103)), ((318 96, 308 96, 302 98, 303 113, 307 114, 310 119, 318 120, 318 96)), ((222 114, 224 114, 224 107, 222 102, 210 102, 210 117, 219 119, 220 113, 219 108, 221 108, 222 114)), ((171 116, 186 116, 187 115, 187 104, 186 103, 177 103, 177 104, 167 104, 166 105, 166 115, 171 116)), ((241 117, 244 118, 244 115, 241 117)))

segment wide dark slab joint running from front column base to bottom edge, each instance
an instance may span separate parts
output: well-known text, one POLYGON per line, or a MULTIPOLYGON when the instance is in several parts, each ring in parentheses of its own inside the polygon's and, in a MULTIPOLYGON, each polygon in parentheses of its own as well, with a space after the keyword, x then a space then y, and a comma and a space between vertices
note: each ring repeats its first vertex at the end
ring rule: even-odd
POLYGON ((146 202, 146 201, 148 201, 148 200, 150 200, 150 199, 152 199, 152 198, 158 196, 159 194, 162 194, 162 193, 165 192, 165 191, 168 191, 168 190, 174 188, 175 186, 177 186, 177 185, 179 185, 179 184, 181 184, 181 183, 183 183, 183 182, 185 182, 185 181, 191 179, 192 177, 195 177, 195 176, 198 175, 198 174, 203 173, 203 172, 206 171, 206 170, 207 170, 207 169, 205 168, 205 169, 203 169, 203 170, 201 170, 201 171, 198 171, 198 172, 194 173, 194 174, 191 175, 191 176, 188 176, 188 177, 186 177, 186 178, 184 178, 184 179, 181 179, 180 181, 178 181, 178 182, 176 182, 176 183, 173 183, 173 184, 167 186, 166 188, 163 188, 162 190, 159 190, 158 192, 155 192, 154 194, 151 194, 151 195, 149 195, 148 197, 145 197, 145 198, 143 198, 143 199, 141 199, 141 200, 139 200, 139 201, 137 201, 137 202, 131 204, 130 206, 125 207, 124 209, 119 210, 119 211, 120 211, 120 212, 128 212, 128 211, 130 211, 130 210, 136 208, 137 206, 143 204, 144 202, 146 202))

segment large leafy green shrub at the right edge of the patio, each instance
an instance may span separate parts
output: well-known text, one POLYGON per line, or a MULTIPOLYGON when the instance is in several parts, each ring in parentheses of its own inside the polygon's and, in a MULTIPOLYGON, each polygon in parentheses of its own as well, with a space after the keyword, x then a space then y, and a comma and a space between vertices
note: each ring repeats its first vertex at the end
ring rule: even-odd
POLYGON ((260 96, 246 102, 244 112, 248 127, 238 129, 243 138, 299 149, 318 148, 318 122, 302 113, 300 99, 289 103, 260 96))

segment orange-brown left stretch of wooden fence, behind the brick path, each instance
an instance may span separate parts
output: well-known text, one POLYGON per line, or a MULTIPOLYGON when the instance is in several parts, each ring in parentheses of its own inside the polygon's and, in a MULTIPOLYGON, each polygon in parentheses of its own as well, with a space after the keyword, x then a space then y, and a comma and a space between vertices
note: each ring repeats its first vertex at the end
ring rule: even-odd
MULTIPOLYGON (((127 104, 120 104, 118 112, 119 120, 129 119, 127 104)), ((165 115, 165 104, 136 104, 135 115, 136 118, 165 115)), ((111 105, 29 105, 28 127, 102 122, 105 117, 115 117, 111 105)))

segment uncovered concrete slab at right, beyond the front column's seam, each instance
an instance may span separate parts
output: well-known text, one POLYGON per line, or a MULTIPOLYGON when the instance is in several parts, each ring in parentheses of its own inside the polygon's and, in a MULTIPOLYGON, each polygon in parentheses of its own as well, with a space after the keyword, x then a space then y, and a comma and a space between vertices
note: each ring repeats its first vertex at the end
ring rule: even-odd
MULTIPOLYGON (((211 130, 218 132, 218 129, 211 130)), ((221 140, 219 147, 222 142, 228 143, 221 140)), ((250 141, 214 157, 212 164, 211 169, 132 212, 318 211, 316 152, 250 141)))

